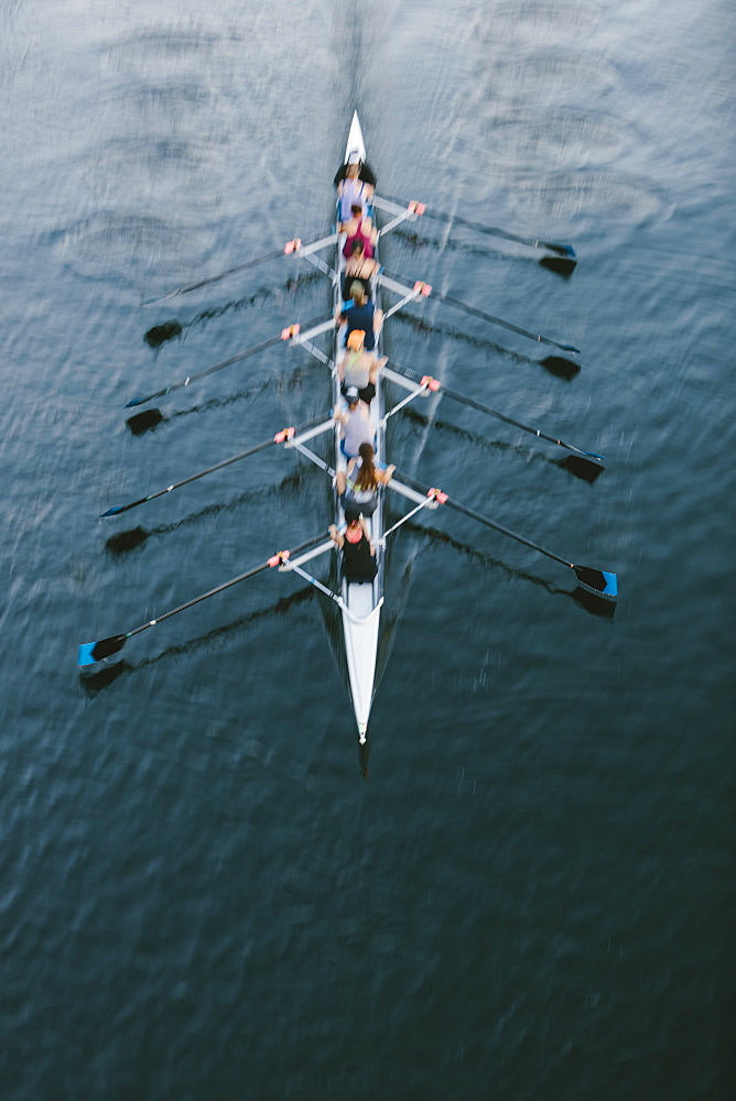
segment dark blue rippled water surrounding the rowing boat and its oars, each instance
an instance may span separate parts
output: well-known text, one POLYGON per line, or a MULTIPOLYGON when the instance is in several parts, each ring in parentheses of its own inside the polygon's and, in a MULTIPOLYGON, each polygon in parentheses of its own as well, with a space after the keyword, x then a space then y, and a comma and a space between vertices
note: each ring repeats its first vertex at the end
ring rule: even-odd
POLYGON ((730 1095, 733 3, 8 0, 1 30, 3 1101, 730 1095), (580 257, 429 218, 385 248, 578 346, 574 379, 436 299, 391 355, 607 469, 446 400, 396 461, 621 589, 593 615, 470 520, 404 531, 368 783, 296 578, 75 666, 326 522, 272 451, 97 516, 325 408, 283 347, 155 432, 123 405, 325 312, 285 260, 141 302, 325 230, 356 107, 385 192, 580 257))

